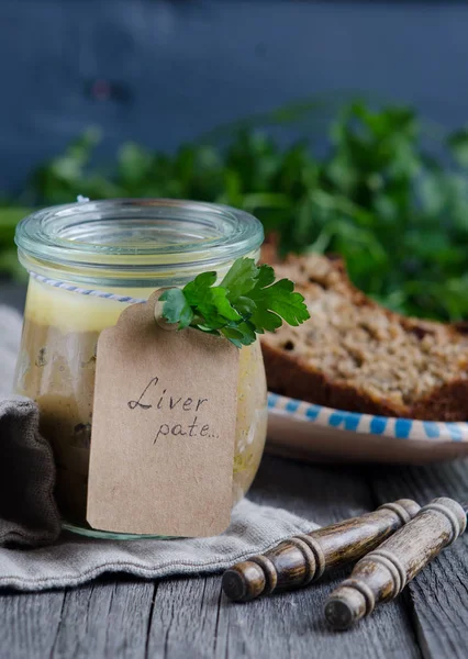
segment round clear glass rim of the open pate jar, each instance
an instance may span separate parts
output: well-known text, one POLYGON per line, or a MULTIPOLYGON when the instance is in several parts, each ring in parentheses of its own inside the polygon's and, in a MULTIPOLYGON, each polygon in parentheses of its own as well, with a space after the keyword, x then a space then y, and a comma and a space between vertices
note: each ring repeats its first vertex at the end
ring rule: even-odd
POLYGON ((112 199, 49 206, 16 227, 27 270, 108 286, 152 286, 226 267, 255 253, 261 223, 227 205, 172 199, 112 199))

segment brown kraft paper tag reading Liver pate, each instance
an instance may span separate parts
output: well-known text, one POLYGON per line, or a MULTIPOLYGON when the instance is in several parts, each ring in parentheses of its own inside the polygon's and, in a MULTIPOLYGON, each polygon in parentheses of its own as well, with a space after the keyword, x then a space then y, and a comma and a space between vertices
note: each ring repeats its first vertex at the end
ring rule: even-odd
POLYGON ((87 520, 118 533, 218 535, 231 520, 238 349, 160 327, 158 295, 99 337, 87 520))

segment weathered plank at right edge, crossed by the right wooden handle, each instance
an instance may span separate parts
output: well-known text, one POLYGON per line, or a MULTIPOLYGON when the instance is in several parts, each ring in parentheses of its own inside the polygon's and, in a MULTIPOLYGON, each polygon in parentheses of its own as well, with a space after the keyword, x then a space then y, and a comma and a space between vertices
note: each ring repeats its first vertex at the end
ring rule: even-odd
MULTIPOLYGON (((435 496, 468 500, 468 462, 421 468, 377 469, 370 474, 379 502, 411 496, 427 503, 435 496)), ((427 566, 409 585, 424 657, 465 659, 468 647, 468 535, 427 566)))

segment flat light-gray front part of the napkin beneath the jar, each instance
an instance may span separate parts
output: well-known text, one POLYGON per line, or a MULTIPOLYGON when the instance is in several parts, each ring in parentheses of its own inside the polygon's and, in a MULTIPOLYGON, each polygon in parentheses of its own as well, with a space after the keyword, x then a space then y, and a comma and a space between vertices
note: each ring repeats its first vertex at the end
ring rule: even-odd
POLYGON ((218 572, 313 527, 283 510, 244 500, 230 528, 213 538, 118 541, 64 533, 49 547, 0 549, 0 585, 38 591, 78 585, 104 572, 146 579, 218 572))

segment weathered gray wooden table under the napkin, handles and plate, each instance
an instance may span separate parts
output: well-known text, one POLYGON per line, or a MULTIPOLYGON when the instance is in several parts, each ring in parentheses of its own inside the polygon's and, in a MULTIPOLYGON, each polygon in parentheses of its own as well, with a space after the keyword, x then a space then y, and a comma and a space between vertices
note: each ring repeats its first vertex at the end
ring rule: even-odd
MULTIPOLYGON (((0 287, 21 308, 24 291, 0 287)), ((421 468, 304 465, 266 456, 253 500, 328 524, 409 496, 468 500, 468 462, 421 468)), ((248 604, 229 602, 220 576, 100 579, 41 594, 0 591, 0 659, 253 657, 346 659, 468 656, 468 534, 394 602, 356 628, 331 632, 327 593, 345 572, 248 604)))

